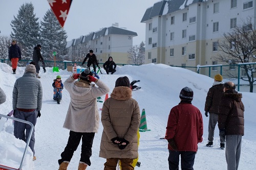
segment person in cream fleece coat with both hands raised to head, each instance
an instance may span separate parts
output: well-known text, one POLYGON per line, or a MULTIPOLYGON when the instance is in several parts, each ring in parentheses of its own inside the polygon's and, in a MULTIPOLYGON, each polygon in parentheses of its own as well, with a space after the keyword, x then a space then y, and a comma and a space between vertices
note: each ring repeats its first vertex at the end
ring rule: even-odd
POLYGON ((67 169, 81 139, 82 149, 78 169, 84 170, 91 165, 93 139, 99 129, 96 99, 108 93, 110 89, 101 80, 94 78, 88 68, 81 74, 71 76, 63 84, 71 98, 63 128, 69 129, 70 133, 68 144, 61 153, 61 159, 58 160, 59 170, 67 169), (78 78, 80 80, 74 82, 78 78))

